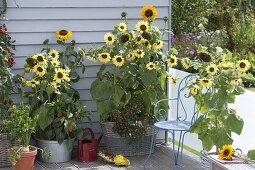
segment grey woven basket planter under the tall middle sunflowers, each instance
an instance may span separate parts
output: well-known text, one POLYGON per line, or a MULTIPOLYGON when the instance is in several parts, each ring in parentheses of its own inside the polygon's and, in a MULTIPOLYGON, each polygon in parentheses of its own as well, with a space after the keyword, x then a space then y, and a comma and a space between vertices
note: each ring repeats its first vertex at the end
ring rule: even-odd
MULTIPOLYGON (((155 137, 156 130, 148 128, 147 133, 141 136, 137 141, 128 143, 126 138, 119 136, 112 131, 113 122, 100 122, 107 152, 124 156, 146 155, 150 152, 152 136, 155 137)), ((155 141, 155 140, 154 140, 155 141)), ((152 152, 154 152, 154 145, 152 152)))

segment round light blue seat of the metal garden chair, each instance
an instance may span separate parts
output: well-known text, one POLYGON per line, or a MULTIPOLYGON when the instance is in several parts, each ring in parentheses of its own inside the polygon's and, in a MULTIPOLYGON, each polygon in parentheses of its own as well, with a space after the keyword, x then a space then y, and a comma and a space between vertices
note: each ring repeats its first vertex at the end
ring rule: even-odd
POLYGON ((159 121, 156 122, 154 126, 163 130, 188 131, 191 126, 191 122, 177 120, 159 121))

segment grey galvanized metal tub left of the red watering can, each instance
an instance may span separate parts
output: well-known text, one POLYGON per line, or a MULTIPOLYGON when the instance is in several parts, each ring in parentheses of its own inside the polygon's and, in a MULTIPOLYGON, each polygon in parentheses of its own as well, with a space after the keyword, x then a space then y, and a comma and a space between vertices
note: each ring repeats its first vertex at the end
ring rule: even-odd
POLYGON ((41 153, 39 154, 39 159, 42 162, 59 163, 68 162, 71 160, 72 150, 68 151, 67 140, 64 140, 61 145, 58 143, 58 141, 37 140, 37 145, 39 148, 45 148, 47 152, 51 152, 50 160, 48 160, 47 158, 43 158, 41 153))

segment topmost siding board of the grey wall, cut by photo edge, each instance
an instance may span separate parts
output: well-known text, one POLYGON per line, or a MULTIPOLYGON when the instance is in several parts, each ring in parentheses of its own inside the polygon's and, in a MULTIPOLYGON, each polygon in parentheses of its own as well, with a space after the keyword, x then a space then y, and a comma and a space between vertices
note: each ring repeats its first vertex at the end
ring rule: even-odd
MULTIPOLYGON (((2 2, 1 2, 2 3, 2 2)), ((20 8, 24 7, 142 7, 144 5, 169 6, 168 0, 17 0, 20 8)), ((16 8, 14 1, 8 1, 8 7, 16 8)))

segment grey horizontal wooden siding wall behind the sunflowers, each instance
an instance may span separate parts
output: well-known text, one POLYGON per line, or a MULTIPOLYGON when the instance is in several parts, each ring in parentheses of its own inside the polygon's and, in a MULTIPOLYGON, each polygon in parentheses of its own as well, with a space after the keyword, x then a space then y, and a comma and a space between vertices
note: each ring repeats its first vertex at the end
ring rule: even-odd
MULTIPOLYGON (((158 9, 158 19, 155 24, 163 28, 163 17, 169 15, 169 0, 17 0, 17 8, 12 0, 8 0, 7 25, 8 32, 16 40, 15 65, 13 73, 22 71, 25 57, 39 53, 42 42, 50 39, 52 48, 56 45, 55 31, 70 29, 72 39, 77 47, 89 49, 92 44, 103 44, 103 36, 120 23, 122 11, 128 13, 129 27, 140 20, 140 8, 144 5, 154 5, 158 9)), ((164 37, 167 42, 168 35, 164 37)), ((89 126, 95 133, 100 133, 99 114, 92 101, 89 88, 95 79, 100 63, 85 61, 86 72, 81 74, 81 80, 73 86, 78 89, 81 101, 89 111, 94 112, 93 123, 84 120, 83 126, 89 126)), ((17 99, 18 94, 13 95, 17 99)))

